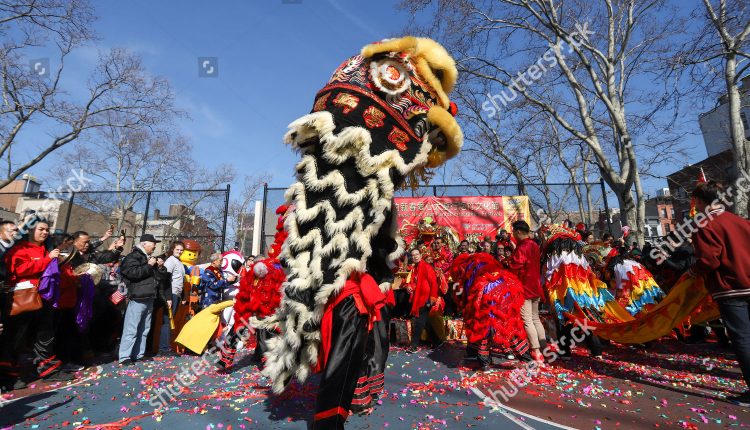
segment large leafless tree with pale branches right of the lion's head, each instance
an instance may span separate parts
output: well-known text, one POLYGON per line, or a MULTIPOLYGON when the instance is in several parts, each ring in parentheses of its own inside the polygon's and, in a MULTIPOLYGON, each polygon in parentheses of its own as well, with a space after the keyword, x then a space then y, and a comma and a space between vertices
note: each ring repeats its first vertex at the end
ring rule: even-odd
MULTIPOLYGON (((430 1, 404 2, 419 13, 430 1)), ((460 72, 496 85, 483 114, 513 116, 520 97, 591 151, 642 242, 639 163, 674 139, 675 94, 640 86, 670 49, 679 14, 663 0, 442 0, 428 30, 458 57, 460 72), (670 13, 668 22, 658 13, 670 13), (514 67, 515 66, 515 67, 514 67), (520 66, 520 67, 519 67, 520 66), (526 67, 521 72, 513 68, 526 67), (502 91, 502 92, 501 92, 502 91), (665 118, 666 115, 666 118, 665 118)), ((650 164, 650 163, 649 163, 650 164)))

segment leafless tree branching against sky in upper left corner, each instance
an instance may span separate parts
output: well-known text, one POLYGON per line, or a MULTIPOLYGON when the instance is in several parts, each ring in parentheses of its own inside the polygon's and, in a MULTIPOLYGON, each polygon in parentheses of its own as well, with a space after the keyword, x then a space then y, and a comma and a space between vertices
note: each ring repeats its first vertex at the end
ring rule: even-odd
POLYGON ((92 22, 82 0, 0 3, 0 159, 6 166, 0 188, 92 130, 146 129, 178 113, 169 83, 149 76, 141 59, 122 49, 101 53, 86 91, 68 94, 66 60, 92 40, 92 22), (57 64, 31 64, 36 46, 56 48, 57 64))

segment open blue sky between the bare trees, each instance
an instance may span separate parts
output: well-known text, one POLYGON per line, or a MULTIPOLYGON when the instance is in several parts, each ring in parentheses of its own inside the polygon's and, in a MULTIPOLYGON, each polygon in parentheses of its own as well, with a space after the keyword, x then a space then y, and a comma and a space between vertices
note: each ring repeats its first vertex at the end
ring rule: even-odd
MULTIPOLYGON (((128 48, 150 73, 170 80, 178 107, 191 117, 179 128, 192 141, 194 158, 209 167, 232 163, 240 178, 270 173, 270 185, 285 187, 297 160, 281 142, 287 124, 309 112, 341 61, 367 43, 401 34, 409 16, 395 3, 96 1, 100 40, 75 52, 69 76, 76 78, 68 88, 82 88, 77 77, 88 74, 99 50, 128 48), (199 57, 218 58, 218 77, 199 77, 199 57)), ((705 158, 700 136, 684 144, 695 148, 690 162, 705 158)), ((43 176, 54 158, 31 173, 43 176)), ((666 181, 645 180, 649 193, 662 186, 666 181)))

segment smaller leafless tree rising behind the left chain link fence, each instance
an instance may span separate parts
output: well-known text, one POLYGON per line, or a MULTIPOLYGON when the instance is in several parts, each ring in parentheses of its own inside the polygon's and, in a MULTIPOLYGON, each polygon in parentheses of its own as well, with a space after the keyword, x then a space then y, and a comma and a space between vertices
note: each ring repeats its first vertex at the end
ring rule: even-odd
POLYGON ((58 180, 64 181, 70 169, 80 169, 92 180, 87 191, 112 191, 81 193, 76 202, 111 218, 118 230, 135 233, 141 228, 136 213, 143 211, 149 191, 176 190, 168 195, 154 193, 150 201, 151 208, 165 199, 168 204, 181 206, 181 213, 165 226, 167 240, 205 233, 188 231, 193 229, 190 226, 199 230, 220 226, 224 194, 192 190, 217 189, 234 179, 232 166, 211 170, 201 166, 192 158, 190 142, 167 130, 102 127, 90 140, 60 152, 56 161, 53 174, 58 180), (181 224, 179 231, 175 229, 177 223, 181 224), (206 226, 201 227, 204 223, 206 226))

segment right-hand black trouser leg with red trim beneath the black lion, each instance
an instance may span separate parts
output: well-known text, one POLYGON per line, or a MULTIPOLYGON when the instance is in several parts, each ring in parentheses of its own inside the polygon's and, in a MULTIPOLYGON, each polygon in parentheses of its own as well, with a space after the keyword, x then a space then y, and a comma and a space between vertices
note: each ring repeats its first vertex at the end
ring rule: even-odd
POLYGON ((391 323, 389 310, 380 310, 381 321, 377 321, 367 336, 365 365, 362 368, 352 399, 352 412, 361 412, 374 406, 385 386, 385 363, 388 361, 388 327, 391 323))

